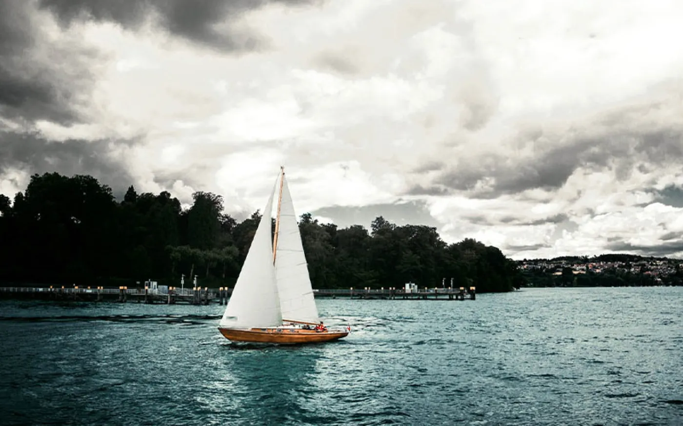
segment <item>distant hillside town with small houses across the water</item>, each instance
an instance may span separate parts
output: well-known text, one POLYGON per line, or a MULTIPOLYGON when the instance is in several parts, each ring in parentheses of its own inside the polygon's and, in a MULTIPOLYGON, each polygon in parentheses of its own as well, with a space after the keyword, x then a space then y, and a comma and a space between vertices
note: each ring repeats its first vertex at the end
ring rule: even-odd
POLYGON ((683 285, 683 260, 607 254, 524 259, 517 264, 529 287, 683 285))

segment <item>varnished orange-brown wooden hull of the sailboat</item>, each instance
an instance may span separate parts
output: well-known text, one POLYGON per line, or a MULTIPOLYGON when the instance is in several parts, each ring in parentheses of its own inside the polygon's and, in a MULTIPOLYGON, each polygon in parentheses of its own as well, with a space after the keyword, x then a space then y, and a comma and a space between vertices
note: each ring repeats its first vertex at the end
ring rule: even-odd
POLYGON ((236 342, 281 343, 293 345, 298 343, 322 343, 342 339, 348 335, 346 331, 301 330, 291 328, 251 328, 238 330, 235 328, 218 328, 223 337, 236 342))

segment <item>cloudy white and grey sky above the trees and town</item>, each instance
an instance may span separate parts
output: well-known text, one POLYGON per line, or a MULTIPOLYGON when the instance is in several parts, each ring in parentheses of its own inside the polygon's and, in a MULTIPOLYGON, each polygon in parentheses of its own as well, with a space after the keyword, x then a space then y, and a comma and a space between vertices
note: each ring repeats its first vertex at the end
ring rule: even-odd
POLYGON ((0 0, 0 193, 211 191, 513 259, 683 257, 683 2, 0 0))

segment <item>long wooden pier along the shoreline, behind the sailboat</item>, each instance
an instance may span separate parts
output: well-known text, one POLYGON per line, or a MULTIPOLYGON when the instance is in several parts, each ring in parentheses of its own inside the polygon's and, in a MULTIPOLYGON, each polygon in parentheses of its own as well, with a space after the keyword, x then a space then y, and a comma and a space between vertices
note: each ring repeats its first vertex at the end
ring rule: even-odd
MULTIPOLYGON (((475 287, 423 288, 412 291, 396 287, 371 289, 313 289, 316 298, 350 298, 383 300, 475 300, 475 287)), ((227 304, 232 288, 169 287, 167 292, 118 287, 0 287, 0 299, 57 300, 80 302, 132 302, 146 304, 227 304)))

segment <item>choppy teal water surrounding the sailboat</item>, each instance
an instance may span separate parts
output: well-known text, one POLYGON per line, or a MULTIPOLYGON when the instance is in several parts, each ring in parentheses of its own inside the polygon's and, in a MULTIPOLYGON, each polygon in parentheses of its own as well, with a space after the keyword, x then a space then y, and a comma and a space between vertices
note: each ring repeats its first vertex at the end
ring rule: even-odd
POLYGON ((681 425, 683 288, 318 300, 344 341, 234 345, 223 307, 0 302, 3 425, 681 425))

